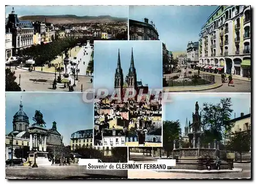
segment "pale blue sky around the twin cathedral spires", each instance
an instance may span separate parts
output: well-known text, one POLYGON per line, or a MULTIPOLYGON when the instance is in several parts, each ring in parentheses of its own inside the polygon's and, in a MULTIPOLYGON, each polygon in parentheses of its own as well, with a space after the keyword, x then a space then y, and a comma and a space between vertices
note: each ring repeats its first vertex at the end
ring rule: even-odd
MULTIPOLYGON (((94 88, 113 92, 117 68, 118 49, 123 70, 123 80, 130 67, 133 48, 137 81, 148 88, 162 88, 161 41, 94 41, 94 88)), ((112 93, 111 92, 111 93, 112 93)))

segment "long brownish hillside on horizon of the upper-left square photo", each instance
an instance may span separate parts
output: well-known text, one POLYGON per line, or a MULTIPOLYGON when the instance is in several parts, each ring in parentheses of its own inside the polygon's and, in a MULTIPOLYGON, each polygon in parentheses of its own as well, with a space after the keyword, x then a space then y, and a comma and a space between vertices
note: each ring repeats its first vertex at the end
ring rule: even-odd
POLYGON ((28 15, 19 17, 20 20, 45 21, 58 23, 93 23, 93 22, 126 22, 127 18, 112 17, 110 15, 101 16, 76 16, 76 15, 28 15))

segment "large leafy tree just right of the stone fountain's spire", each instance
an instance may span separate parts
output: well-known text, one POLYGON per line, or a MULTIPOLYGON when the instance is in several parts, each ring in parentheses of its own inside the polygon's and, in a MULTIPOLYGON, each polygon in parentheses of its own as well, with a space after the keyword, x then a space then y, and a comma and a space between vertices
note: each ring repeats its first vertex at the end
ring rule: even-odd
POLYGON ((221 141, 224 130, 229 131, 234 126, 234 123, 230 122, 233 112, 231 106, 231 98, 222 98, 217 104, 203 103, 201 123, 205 129, 205 137, 221 141))

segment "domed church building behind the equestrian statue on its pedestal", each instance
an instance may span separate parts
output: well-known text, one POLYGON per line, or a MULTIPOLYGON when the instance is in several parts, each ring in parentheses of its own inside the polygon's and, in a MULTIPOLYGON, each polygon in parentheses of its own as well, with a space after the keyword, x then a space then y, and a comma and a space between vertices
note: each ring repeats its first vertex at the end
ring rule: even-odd
MULTIPOLYGON (((6 122, 8 123, 8 122, 6 122)), ((6 160, 11 159, 11 147, 13 136, 13 151, 16 148, 23 148, 29 146, 30 134, 29 134, 29 117, 23 110, 22 99, 20 100, 19 110, 13 116, 13 131, 6 135, 6 160)), ((57 131, 56 122, 53 122, 52 128, 48 129, 47 146, 60 146, 61 135, 57 131)), ((16 157, 13 154, 13 159, 16 157)))

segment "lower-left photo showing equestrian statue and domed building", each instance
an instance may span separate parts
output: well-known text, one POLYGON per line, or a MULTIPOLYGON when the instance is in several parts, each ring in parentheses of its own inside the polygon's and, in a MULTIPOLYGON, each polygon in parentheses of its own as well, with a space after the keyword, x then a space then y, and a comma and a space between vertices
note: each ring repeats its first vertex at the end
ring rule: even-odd
POLYGON ((93 100, 84 95, 6 92, 6 178, 127 178, 79 164, 127 163, 127 147, 93 145, 93 100))

